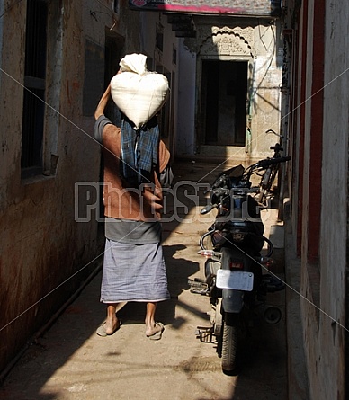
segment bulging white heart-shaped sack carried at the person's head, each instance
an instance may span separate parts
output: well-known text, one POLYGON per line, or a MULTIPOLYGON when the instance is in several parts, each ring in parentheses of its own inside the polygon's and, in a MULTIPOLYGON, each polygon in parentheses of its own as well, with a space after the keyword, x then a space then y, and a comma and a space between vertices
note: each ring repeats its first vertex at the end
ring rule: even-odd
POLYGON ((166 76, 149 72, 146 56, 132 54, 121 59, 121 72, 112 77, 112 100, 139 129, 165 104, 169 93, 166 76))

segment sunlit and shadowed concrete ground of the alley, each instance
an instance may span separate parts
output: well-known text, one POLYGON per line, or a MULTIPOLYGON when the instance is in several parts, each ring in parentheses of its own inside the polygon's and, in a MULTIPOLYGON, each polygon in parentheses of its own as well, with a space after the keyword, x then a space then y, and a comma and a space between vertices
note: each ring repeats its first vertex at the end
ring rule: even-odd
MULTIPOLYGON (((256 319, 247 338, 244 366, 235 377, 221 371, 215 343, 201 342, 197 326, 209 326, 209 298, 192 294, 188 279, 203 278, 198 241, 212 216, 202 218, 203 186, 212 182, 213 165, 175 164, 177 197, 167 195, 164 251, 171 293, 159 304, 157 320, 163 338, 145 336, 143 304, 121 310, 121 329, 99 337, 105 307, 99 302, 101 272, 97 271, 79 297, 32 342, 0 388, 3 400, 294 400, 289 396, 285 291, 269 303, 282 309, 282 321, 268 325, 256 319), (175 215, 175 218, 174 217, 175 215)), ((284 279, 283 225, 276 209, 263 211, 265 235, 275 245, 273 272, 284 279)))

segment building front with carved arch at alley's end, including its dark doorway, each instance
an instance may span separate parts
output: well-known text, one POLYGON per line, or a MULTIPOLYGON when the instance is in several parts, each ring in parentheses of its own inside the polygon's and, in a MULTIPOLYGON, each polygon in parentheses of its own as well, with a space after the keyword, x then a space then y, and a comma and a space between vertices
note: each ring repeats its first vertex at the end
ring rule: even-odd
POLYGON ((195 17, 180 46, 176 154, 271 156, 282 134, 282 40, 275 17, 195 17), (184 89, 185 88, 185 89, 184 89))

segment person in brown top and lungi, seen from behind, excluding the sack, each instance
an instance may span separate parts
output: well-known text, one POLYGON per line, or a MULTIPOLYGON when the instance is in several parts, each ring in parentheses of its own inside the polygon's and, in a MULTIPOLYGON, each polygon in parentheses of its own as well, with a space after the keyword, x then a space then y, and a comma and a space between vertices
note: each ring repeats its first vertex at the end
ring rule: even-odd
POLYGON ((161 244, 159 176, 170 153, 159 138, 155 116, 140 132, 127 118, 121 127, 108 120, 103 112, 110 98, 111 84, 94 112, 94 136, 102 144, 104 160, 106 239, 100 301, 107 305, 106 319, 96 333, 115 333, 121 325, 118 311, 129 301, 146 302, 145 334, 159 340, 165 327, 156 321, 157 303, 170 298, 161 244))

